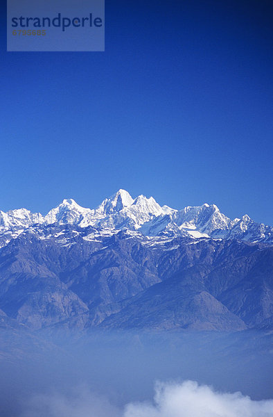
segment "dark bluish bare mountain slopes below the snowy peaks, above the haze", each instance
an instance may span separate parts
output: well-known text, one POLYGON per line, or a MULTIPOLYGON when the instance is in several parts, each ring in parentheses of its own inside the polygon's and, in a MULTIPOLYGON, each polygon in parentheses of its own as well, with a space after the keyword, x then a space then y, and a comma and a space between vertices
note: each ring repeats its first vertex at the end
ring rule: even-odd
POLYGON ((30 328, 244 329, 272 316, 273 247, 30 229, 0 250, 0 309, 30 328))

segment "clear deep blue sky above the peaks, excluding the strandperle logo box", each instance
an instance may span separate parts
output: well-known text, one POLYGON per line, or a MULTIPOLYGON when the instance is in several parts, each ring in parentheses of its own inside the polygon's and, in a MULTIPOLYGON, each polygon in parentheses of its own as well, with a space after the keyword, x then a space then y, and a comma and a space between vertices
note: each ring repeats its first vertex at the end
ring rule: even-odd
POLYGON ((273 224, 272 1, 106 0, 104 53, 6 52, 0 208, 118 188, 273 224))

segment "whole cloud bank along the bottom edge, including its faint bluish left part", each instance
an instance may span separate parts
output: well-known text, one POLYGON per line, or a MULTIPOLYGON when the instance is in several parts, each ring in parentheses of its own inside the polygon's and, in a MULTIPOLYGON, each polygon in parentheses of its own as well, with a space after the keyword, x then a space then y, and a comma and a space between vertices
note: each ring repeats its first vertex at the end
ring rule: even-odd
POLYGON ((64 395, 37 395, 20 417, 272 417, 273 400, 253 401, 241 393, 218 393, 206 385, 157 383, 151 403, 118 409, 87 389, 64 395))

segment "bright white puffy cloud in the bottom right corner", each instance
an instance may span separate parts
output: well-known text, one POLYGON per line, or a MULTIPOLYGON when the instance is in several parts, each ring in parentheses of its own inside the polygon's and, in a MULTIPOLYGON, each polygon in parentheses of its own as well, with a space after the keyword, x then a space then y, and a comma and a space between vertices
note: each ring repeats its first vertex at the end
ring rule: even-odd
POLYGON ((128 404, 124 417, 272 417, 273 400, 253 401, 241 393, 218 393, 186 381, 157 384, 154 404, 128 404))

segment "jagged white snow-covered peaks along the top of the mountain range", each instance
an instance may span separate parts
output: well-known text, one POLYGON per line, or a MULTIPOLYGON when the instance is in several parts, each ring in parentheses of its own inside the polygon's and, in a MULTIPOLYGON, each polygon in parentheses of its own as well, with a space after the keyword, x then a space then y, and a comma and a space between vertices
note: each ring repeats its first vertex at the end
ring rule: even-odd
POLYGON ((186 236, 190 238, 236 238, 249 242, 273 243, 273 228, 254 222, 248 215, 229 219, 215 204, 187 206, 176 210, 160 206, 153 197, 135 199, 125 190, 106 198, 97 208, 84 208, 73 199, 64 199, 44 217, 25 208, 0 211, 0 236, 3 246, 29 227, 67 224, 93 227, 100 233, 120 229, 138 231, 143 236, 186 236))

